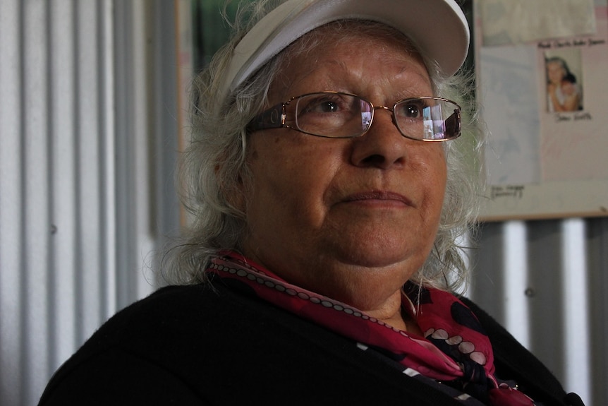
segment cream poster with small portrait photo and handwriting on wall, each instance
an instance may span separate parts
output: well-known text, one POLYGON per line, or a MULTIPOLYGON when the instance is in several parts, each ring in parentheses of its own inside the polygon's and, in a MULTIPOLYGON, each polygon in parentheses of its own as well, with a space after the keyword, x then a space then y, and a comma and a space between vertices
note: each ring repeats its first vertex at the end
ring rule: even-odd
POLYGON ((485 220, 608 215, 605 0, 484 0, 485 220))

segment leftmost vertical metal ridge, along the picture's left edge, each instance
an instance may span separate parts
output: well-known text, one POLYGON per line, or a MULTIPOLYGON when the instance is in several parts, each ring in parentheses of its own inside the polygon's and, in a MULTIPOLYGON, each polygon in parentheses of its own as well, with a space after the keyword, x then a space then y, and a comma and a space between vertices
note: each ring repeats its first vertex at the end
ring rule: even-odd
POLYGON ((19 405, 23 383, 23 4, 0 4, 0 403, 19 405), (2 394, 5 395, 2 395, 2 394))

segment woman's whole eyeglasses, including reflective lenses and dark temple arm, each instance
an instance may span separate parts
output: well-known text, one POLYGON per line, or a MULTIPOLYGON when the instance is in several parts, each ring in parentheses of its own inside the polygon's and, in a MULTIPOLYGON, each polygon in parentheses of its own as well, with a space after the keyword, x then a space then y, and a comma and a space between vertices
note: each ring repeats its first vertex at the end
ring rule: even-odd
POLYGON ((354 138, 369 131, 377 109, 391 112, 402 136, 418 141, 449 141, 461 134, 461 107, 442 97, 412 97, 392 108, 349 93, 319 92, 292 97, 258 114, 249 132, 293 129, 311 136, 354 138))

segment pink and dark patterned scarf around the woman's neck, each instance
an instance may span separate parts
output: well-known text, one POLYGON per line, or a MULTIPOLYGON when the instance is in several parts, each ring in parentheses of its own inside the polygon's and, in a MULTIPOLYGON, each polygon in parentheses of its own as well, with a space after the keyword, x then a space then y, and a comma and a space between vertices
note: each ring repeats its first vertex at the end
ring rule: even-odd
POLYGON ((415 373, 457 385, 487 405, 535 405, 528 396, 494 377, 490 340, 473 312, 449 292, 411 284, 403 289, 403 308, 424 333, 419 337, 352 306, 291 285, 237 253, 213 258, 207 272, 241 280, 258 297, 375 347, 415 373))

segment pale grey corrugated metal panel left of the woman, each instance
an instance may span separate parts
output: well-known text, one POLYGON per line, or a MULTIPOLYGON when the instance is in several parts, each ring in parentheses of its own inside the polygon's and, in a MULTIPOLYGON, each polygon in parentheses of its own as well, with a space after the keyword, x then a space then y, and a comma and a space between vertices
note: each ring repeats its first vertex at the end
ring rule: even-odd
POLYGON ((0 405, 35 405, 155 287, 148 256, 178 227, 173 16, 173 1, 0 0, 0 405))

